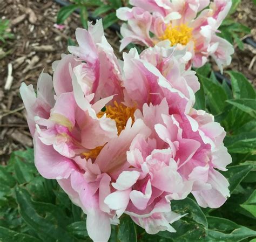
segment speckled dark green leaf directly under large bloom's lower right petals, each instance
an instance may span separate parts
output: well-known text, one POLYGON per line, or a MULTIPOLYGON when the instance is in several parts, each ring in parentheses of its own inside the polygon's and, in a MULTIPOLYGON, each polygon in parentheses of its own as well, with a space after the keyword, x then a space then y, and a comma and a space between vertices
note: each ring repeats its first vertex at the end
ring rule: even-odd
POLYGON ((207 219, 203 211, 191 198, 187 197, 183 200, 172 200, 171 207, 172 211, 180 214, 188 213, 186 217, 193 219, 198 224, 204 225, 205 228, 208 227, 207 219))

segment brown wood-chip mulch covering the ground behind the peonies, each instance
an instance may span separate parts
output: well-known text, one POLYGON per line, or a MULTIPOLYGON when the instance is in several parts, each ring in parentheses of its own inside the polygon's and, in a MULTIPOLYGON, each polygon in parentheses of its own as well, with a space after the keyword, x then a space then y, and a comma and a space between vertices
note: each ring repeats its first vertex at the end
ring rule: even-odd
MULTIPOLYGON (((67 53, 68 38, 75 39, 75 29, 81 27, 76 13, 66 21, 64 30, 53 27, 59 9, 58 4, 47 0, 0 0, 0 17, 10 19, 11 32, 15 36, 3 46, 0 43, 0 163, 6 163, 12 151, 32 147, 24 106, 19 96, 21 83, 24 81, 36 87, 43 69, 52 75, 51 63, 60 59, 61 53, 67 53), (3 57, 3 52, 9 54, 3 57), (14 79, 10 89, 5 90, 8 64, 12 65, 14 79)), ((251 1, 242 0, 241 7, 234 15, 240 23, 251 27, 254 40, 255 14, 256 9, 251 1)), ((106 37, 118 53, 116 34, 107 30, 106 37)), ((255 49, 251 49, 251 46, 245 45, 244 51, 236 47, 231 64, 231 68, 244 73, 254 84, 255 55, 255 49)))

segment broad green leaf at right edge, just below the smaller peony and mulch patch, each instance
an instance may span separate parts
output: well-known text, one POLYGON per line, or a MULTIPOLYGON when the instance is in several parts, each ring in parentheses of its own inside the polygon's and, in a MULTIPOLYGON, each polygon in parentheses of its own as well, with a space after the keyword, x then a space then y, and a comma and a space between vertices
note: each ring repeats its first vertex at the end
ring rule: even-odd
POLYGON ((232 91, 235 99, 255 99, 255 91, 247 78, 239 72, 228 71, 231 77, 232 91))

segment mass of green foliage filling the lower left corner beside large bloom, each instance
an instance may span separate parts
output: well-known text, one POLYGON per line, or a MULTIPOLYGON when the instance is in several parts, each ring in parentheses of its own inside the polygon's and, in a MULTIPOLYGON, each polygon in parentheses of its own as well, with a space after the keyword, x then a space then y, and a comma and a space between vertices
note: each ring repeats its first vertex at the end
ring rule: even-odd
POLYGON ((0 241, 91 241, 82 210, 56 181, 39 176, 33 149, 12 153, 0 182, 0 241))

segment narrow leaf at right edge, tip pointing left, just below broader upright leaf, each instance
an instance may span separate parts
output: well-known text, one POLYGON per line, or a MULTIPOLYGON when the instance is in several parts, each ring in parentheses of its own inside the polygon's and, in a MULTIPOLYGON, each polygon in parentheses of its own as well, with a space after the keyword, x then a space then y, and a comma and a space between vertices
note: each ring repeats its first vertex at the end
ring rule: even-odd
POLYGON ((255 99, 234 99, 226 100, 226 102, 237 107, 245 113, 248 113, 250 116, 256 119, 256 100, 255 99))

